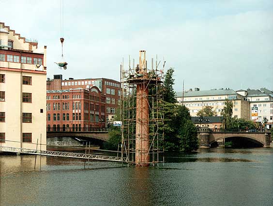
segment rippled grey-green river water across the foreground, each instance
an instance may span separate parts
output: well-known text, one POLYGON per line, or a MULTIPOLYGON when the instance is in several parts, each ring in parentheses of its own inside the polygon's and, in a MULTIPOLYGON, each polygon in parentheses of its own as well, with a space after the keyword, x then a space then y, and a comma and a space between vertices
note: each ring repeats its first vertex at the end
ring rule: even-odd
POLYGON ((37 157, 34 170, 35 156, 2 156, 0 206, 273 206, 273 148, 165 158, 159 168, 84 168, 80 159, 37 157))

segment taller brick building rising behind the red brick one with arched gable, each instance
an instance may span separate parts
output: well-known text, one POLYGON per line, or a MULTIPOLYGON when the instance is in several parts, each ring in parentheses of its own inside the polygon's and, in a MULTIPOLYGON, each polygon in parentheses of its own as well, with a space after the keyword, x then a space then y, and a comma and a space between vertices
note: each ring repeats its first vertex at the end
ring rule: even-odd
POLYGON ((64 79, 62 75, 54 75, 53 79, 47 78, 47 90, 89 89, 96 86, 106 98, 106 122, 112 121, 115 111, 120 106, 121 83, 113 79, 64 79))

